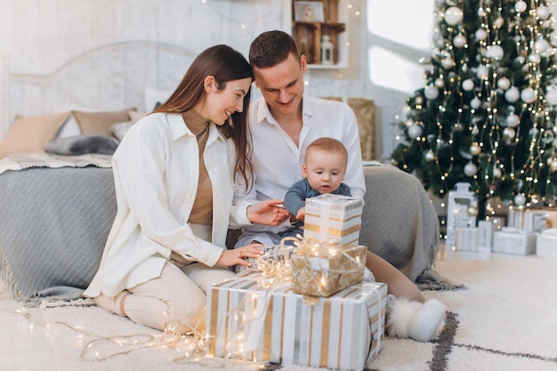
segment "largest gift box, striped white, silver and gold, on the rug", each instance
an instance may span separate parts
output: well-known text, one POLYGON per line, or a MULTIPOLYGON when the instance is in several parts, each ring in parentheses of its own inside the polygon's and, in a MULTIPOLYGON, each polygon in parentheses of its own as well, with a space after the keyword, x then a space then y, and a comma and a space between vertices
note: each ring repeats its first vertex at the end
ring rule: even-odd
POLYGON ((207 289, 209 355, 362 370, 383 347, 387 286, 361 282, 330 297, 246 271, 207 289), (270 283, 269 283, 270 282, 270 283))

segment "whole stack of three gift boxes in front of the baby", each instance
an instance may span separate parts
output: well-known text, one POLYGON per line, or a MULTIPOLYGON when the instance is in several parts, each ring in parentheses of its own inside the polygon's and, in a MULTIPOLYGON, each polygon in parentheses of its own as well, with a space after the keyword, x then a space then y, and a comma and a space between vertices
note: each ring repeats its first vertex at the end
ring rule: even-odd
MULTIPOLYGON (((283 258, 207 290, 206 351, 254 361, 362 370, 382 349, 387 286, 368 281, 362 201, 306 200, 305 230, 283 258)), ((277 246, 278 247, 278 246, 277 246)))

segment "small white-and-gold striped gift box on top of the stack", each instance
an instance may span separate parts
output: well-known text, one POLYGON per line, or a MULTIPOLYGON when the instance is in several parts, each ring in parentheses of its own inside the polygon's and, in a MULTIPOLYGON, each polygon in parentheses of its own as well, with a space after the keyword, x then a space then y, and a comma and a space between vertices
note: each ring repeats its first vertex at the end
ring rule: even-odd
POLYGON ((362 207, 360 198, 331 193, 306 198, 303 237, 336 238, 343 245, 358 245, 362 207))

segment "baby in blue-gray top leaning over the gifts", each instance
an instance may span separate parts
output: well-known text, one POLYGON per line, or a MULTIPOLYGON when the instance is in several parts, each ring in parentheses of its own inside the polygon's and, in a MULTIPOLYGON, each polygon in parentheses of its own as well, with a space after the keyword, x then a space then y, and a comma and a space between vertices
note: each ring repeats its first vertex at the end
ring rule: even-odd
POLYGON ((305 152, 302 165, 303 179, 296 181, 284 197, 284 206, 292 214, 295 225, 280 233, 281 237, 303 235, 305 199, 324 193, 351 196, 350 187, 343 183, 348 152, 343 143, 333 138, 312 141, 305 152))

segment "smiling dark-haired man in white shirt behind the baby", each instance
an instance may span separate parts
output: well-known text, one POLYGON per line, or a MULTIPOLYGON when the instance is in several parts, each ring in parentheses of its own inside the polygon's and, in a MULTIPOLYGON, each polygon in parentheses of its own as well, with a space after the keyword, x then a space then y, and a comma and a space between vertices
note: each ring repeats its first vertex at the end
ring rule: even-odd
MULTIPOLYGON (((353 197, 363 198, 366 185, 354 112, 345 103, 303 94, 306 57, 300 55, 292 36, 282 31, 262 33, 251 44, 249 60, 254 84, 262 93, 249 113, 255 173, 252 195, 258 200, 284 198, 301 177, 307 146, 320 137, 331 137, 341 141, 349 154, 344 182, 353 197)), ((250 226, 237 246, 246 240, 278 245, 277 232, 290 227, 290 221, 275 227, 250 226)))

